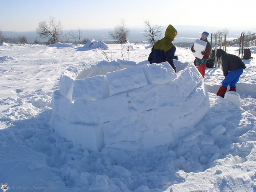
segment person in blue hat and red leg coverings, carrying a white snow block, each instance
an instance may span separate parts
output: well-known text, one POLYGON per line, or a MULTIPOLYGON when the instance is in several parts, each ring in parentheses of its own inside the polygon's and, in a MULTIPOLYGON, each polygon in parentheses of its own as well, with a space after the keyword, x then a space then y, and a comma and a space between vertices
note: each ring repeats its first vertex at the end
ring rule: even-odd
MULTIPOLYGON (((203 55, 203 58, 199 59, 199 58, 196 57, 196 60, 195 60, 195 65, 196 65, 198 71, 200 72, 200 74, 202 74, 203 78, 204 78, 204 75, 205 75, 206 63, 207 63, 207 60, 209 59, 210 53, 211 53, 211 44, 207 40, 208 35, 209 35, 209 33, 206 32, 206 31, 204 31, 202 33, 200 40, 203 40, 203 41, 207 42, 206 49, 201 52, 201 54, 203 55)), ((193 48, 194 48, 194 44, 191 47, 191 51, 194 53, 196 51, 193 48)))

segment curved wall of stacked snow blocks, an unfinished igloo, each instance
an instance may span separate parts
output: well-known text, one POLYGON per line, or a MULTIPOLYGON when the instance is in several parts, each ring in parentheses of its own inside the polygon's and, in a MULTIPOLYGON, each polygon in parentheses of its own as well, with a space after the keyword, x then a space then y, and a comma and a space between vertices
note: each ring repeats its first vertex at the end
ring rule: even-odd
POLYGON ((193 64, 133 61, 69 67, 53 94, 49 124, 83 149, 139 150, 178 142, 182 128, 197 124, 210 102, 193 64))

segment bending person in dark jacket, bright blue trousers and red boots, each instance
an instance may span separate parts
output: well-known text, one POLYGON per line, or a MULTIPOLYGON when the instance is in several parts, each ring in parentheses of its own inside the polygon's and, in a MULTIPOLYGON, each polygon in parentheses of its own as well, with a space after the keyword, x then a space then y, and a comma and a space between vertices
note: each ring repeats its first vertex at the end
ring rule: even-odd
POLYGON ((236 91, 236 84, 246 67, 240 57, 226 53, 223 49, 217 49, 216 56, 221 62, 223 75, 225 76, 217 95, 224 98, 228 85, 230 87, 229 91, 236 91))

